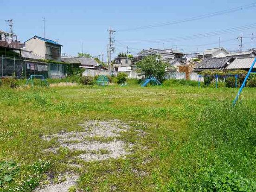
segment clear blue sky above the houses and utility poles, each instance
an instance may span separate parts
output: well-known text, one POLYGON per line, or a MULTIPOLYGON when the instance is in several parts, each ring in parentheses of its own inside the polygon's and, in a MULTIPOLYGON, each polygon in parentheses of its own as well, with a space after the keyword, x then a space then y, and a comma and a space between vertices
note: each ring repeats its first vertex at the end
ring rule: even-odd
MULTIPOLYGON (((77 52, 81 52, 83 42, 84 52, 89 52, 93 56, 103 52, 105 54, 104 59, 107 55, 107 29, 109 26, 116 30, 115 39, 118 41, 115 42, 116 53, 126 51, 126 45, 131 47, 129 51, 134 55, 141 49, 150 47, 161 49, 164 46, 165 48, 172 46, 176 48, 176 45, 177 49, 186 52, 203 51, 206 48, 218 47, 219 37, 221 46, 227 50, 238 50, 239 41, 235 38, 240 36, 241 32, 243 32, 244 37, 251 37, 252 33, 256 37, 256 27, 185 41, 136 44, 128 41, 185 37, 253 24, 256 23, 256 7, 175 25, 126 32, 119 32, 118 30, 191 18, 250 3, 255 3, 255 1, 24 0, 10 3, 2 0, 0 29, 9 31, 5 19, 13 19, 15 34, 18 35, 19 40, 25 41, 34 35, 43 36, 42 17, 45 17, 45 38, 58 39, 59 43, 63 45, 62 52, 76 55, 77 52)), ((243 42, 243 49, 256 47, 256 38, 253 40, 244 38, 243 42)))

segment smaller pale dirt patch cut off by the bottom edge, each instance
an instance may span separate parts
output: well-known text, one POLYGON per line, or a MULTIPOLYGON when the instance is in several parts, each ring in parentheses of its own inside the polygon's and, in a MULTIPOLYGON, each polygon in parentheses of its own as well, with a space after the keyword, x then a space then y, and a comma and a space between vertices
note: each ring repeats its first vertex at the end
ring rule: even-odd
POLYGON ((63 181, 60 183, 54 183, 51 180, 49 184, 37 188, 34 192, 68 192, 71 186, 75 186, 77 184, 78 176, 67 173, 65 176, 62 176, 61 179, 63 179, 63 181))

